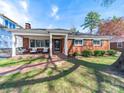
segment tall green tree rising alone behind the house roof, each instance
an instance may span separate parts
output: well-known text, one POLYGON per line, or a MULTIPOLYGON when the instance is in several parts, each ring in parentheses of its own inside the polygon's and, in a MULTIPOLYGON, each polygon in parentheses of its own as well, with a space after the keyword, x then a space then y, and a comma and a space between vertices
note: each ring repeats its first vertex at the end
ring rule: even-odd
POLYGON ((92 34, 93 29, 95 29, 100 22, 100 15, 97 12, 89 12, 87 16, 85 17, 84 24, 81 25, 83 29, 89 28, 90 34, 92 34))

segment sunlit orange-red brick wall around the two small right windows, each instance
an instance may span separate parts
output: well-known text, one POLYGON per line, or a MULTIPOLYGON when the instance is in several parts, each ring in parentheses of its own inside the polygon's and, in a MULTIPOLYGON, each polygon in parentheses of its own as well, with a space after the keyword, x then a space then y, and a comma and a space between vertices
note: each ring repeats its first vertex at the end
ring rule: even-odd
POLYGON ((81 52, 83 50, 109 50, 109 41, 103 40, 101 46, 94 46, 92 39, 87 39, 84 41, 82 46, 74 46, 73 40, 68 40, 68 53, 81 52))

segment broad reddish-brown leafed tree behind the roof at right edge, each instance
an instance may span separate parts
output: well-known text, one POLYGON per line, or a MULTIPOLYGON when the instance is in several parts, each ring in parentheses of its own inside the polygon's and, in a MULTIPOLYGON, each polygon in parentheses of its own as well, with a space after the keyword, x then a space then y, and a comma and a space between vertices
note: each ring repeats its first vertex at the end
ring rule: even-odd
POLYGON ((100 35, 124 35, 124 19, 113 17, 111 20, 104 20, 99 24, 100 35))

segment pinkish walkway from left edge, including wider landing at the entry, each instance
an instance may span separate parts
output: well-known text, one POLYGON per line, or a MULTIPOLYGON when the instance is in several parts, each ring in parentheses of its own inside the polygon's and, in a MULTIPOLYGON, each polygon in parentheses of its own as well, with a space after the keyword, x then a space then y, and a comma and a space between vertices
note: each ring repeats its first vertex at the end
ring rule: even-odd
POLYGON ((13 74, 17 72, 24 73, 26 71, 29 71, 33 67, 35 68, 41 68, 48 65, 59 65, 65 62, 64 60, 68 59, 66 56, 62 54, 53 55, 51 60, 48 60, 48 62, 39 62, 39 63, 33 63, 33 64, 25 64, 25 65, 19 65, 19 66, 8 66, 8 67, 0 67, 0 76, 13 74))

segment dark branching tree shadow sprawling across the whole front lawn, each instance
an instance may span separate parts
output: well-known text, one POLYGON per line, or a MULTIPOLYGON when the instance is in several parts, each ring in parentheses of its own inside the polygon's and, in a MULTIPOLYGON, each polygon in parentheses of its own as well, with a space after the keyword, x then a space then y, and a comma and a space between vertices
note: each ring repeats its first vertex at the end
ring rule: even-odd
MULTIPOLYGON (((59 74, 57 74, 57 75, 44 77, 44 78, 26 80, 26 79, 35 77, 35 76, 43 73, 48 68, 48 65, 52 62, 52 61, 51 62, 48 61, 48 63, 46 64, 45 68, 42 71, 40 71, 40 72, 38 72, 32 76, 27 76, 27 77, 24 77, 20 80, 15 80, 15 81, 11 81, 11 79, 14 80, 14 76, 12 76, 10 79, 8 79, 7 81, 0 84, 0 89, 19 88, 19 87, 26 86, 26 85, 33 85, 33 84, 48 82, 48 81, 52 81, 52 80, 57 80, 57 79, 60 79, 62 77, 67 76, 68 74, 72 73, 80 66, 84 66, 84 67, 87 67, 87 68, 93 70, 93 74, 95 75, 96 82, 97 82, 97 90, 95 91, 95 93, 102 93, 103 92, 102 82, 107 82, 113 86, 116 86, 116 87, 119 87, 122 89, 124 88, 123 85, 121 86, 119 84, 113 84, 110 80, 105 80, 103 78, 103 74, 101 74, 100 71, 104 71, 104 69, 110 67, 109 65, 91 63, 91 62, 87 62, 87 61, 83 61, 83 60, 79 60, 79 59, 75 59, 75 58, 74 59, 68 59, 67 61, 72 63, 73 66, 68 68, 67 70, 60 71, 59 74)), ((54 63, 52 63, 52 64, 54 65, 54 69, 57 70, 56 65, 54 63)), ((69 80, 69 82, 72 82, 72 84, 74 83, 73 81, 70 81, 70 80, 69 80)), ((80 86, 82 86, 82 85, 80 85, 80 86)), ((88 87, 88 89, 90 89, 90 88, 88 87)))

